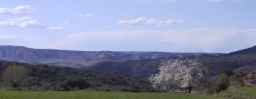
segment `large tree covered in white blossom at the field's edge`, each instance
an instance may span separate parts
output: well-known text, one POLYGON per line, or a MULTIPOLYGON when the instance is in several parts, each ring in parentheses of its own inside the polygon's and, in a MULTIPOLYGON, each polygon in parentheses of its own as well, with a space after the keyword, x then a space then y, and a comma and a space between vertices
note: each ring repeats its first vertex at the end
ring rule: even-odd
POLYGON ((188 88, 188 93, 191 93, 192 88, 205 79, 206 71, 196 60, 170 59, 161 63, 159 74, 152 75, 149 81, 154 88, 162 91, 188 88))

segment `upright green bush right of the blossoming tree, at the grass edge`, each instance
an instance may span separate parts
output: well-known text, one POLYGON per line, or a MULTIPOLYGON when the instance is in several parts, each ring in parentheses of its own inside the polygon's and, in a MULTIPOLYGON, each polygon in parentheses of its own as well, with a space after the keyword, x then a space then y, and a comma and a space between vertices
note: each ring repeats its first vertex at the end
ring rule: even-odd
POLYGON ((220 74, 217 78, 215 85, 217 93, 226 90, 229 86, 228 75, 220 74))

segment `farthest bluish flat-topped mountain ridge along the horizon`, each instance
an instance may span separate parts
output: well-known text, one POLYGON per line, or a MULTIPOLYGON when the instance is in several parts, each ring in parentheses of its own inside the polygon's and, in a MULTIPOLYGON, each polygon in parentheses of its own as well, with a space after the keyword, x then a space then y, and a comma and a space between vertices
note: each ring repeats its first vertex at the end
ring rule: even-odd
MULTIPOLYGON (((125 62, 128 60, 166 59, 198 56, 205 53, 171 53, 171 52, 111 52, 111 51, 70 51, 31 49, 22 46, 0 46, 0 60, 24 62, 29 64, 48 64, 80 68, 97 62, 125 62)), ((208 53, 211 55, 220 55, 208 53)))

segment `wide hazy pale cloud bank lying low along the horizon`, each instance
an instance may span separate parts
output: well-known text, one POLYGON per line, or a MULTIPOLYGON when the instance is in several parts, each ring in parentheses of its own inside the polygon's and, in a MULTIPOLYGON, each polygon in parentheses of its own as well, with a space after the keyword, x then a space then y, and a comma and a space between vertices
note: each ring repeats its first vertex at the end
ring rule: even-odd
POLYGON ((0 33, 0 44, 62 50, 233 52, 256 45, 255 37, 256 29, 227 28, 88 31, 66 35, 63 33, 43 33, 42 35, 0 33))

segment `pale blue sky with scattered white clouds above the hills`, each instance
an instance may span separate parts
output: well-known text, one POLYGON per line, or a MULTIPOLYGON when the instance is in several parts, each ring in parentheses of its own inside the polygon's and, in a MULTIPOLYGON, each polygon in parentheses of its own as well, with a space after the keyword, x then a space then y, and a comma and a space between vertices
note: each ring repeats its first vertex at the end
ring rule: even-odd
POLYGON ((256 45, 256 0, 0 2, 0 45, 223 53, 256 45))

